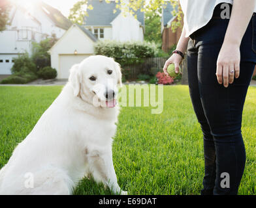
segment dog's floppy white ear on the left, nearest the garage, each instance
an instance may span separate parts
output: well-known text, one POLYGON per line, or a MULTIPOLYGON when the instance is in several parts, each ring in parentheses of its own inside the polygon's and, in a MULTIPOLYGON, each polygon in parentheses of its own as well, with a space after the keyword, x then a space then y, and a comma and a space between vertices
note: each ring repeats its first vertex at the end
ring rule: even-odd
POLYGON ((74 96, 78 96, 80 92, 80 85, 82 77, 80 76, 79 64, 75 64, 72 66, 70 73, 69 73, 69 82, 72 85, 74 96))

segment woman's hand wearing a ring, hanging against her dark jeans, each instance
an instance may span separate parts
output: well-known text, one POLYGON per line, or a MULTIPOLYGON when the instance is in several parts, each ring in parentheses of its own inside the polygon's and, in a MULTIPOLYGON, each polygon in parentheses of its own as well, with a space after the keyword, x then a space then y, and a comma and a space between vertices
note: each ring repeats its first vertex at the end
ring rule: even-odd
POLYGON ((228 87, 232 84, 234 77, 240 74, 240 46, 236 44, 223 43, 217 59, 216 76, 220 85, 228 87))

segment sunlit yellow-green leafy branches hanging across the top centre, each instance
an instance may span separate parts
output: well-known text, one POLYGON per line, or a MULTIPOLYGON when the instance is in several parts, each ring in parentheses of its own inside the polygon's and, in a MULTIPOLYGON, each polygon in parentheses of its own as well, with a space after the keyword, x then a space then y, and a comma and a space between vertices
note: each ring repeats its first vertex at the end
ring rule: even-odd
MULTIPOLYGON (((109 0, 103 0, 106 1, 106 3, 110 3, 109 0)), ((176 31, 178 27, 181 27, 181 20, 182 20, 182 10, 180 8, 180 4, 177 0, 169 0, 171 5, 174 8, 174 11, 172 14, 174 16, 178 16, 176 21, 172 21, 172 30, 176 31), (177 10, 176 10, 177 8, 177 10)), ((137 10, 140 10, 141 12, 145 11, 152 11, 152 12, 157 12, 159 11, 159 8, 162 6, 167 5, 167 1, 165 0, 116 0, 116 8, 120 9, 121 7, 125 12, 129 12, 136 18, 135 12, 137 10)), ((84 16, 87 16, 86 9, 93 9, 93 6, 88 5, 88 0, 81 0, 78 1, 70 11, 69 19, 78 24, 82 24, 84 22, 84 16)), ((114 10, 113 12, 116 12, 114 10)))

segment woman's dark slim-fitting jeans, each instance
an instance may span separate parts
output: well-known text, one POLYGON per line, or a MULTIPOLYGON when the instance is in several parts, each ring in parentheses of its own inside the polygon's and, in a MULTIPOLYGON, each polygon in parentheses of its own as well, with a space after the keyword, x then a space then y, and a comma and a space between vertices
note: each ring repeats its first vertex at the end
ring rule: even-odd
POLYGON ((240 77, 225 88, 217 83, 216 63, 228 24, 212 18, 190 36, 187 51, 189 92, 204 139, 201 194, 237 194, 246 163, 241 123, 256 62, 256 16, 240 47, 240 77))

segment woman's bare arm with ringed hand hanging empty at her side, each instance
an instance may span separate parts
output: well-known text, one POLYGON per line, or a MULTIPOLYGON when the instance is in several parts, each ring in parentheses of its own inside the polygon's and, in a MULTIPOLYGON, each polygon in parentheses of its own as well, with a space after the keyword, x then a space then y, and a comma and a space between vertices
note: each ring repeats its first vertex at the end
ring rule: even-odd
POLYGON ((217 59, 217 81, 227 87, 240 73, 240 44, 256 6, 256 0, 234 0, 225 40, 217 59), (233 71, 234 70, 234 71, 233 71))

